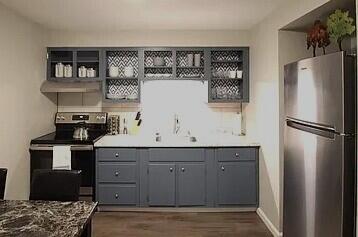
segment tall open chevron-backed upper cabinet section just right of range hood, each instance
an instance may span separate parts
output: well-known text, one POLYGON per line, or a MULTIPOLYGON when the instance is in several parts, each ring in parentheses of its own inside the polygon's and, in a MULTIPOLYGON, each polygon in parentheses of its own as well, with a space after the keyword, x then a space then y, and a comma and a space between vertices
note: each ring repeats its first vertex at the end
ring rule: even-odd
POLYGON ((112 102, 140 102, 139 50, 105 50, 104 97, 112 102))

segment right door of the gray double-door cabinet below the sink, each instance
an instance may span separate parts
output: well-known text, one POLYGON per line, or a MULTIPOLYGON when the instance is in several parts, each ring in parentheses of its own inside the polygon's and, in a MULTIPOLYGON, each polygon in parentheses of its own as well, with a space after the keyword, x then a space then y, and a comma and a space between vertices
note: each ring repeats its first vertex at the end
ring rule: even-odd
POLYGON ((205 163, 178 164, 177 168, 178 206, 205 206, 205 163))

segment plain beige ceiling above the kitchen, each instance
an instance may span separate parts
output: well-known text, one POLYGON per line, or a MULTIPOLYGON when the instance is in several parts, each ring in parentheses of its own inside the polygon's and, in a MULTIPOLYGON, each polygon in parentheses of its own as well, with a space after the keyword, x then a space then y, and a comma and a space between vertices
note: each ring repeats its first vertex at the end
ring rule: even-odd
MULTIPOLYGON (((0 0, 49 29, 250 29, 285 0, 0 0)), ((287 0, 286 0, 287 1, 287 0)))

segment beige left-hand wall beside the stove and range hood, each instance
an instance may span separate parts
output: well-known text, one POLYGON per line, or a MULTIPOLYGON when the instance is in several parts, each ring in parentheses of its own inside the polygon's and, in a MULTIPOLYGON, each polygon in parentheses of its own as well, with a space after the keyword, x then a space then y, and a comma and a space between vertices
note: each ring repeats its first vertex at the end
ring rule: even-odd
POLYGON ((45 32, 0 4, 0 167, 8 168, 7 199, 26 199, 29 143, 53 129, 56 105, 40 93, 45 32))

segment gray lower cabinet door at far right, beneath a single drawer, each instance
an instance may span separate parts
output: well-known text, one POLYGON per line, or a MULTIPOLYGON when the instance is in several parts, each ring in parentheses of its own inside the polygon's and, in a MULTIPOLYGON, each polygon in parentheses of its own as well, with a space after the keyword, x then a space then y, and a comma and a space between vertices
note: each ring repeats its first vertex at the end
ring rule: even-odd
POLYGON ((217 169, 219 205, 257 204, 255 162, 219 162, 217 169))

